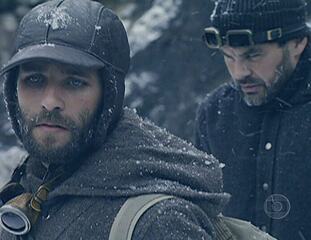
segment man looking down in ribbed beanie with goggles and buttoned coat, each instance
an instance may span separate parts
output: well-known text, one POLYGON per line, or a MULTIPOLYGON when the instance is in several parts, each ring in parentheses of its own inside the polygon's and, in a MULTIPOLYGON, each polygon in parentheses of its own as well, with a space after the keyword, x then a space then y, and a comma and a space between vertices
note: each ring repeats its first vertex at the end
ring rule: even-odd
MULTIPOLYGON (((196 117, 196 146, 226 166, 225 213, 311 239, 311 62, 304 0, 217 0, 204 41, 232 77, 196 117)), ((210 66, 211 67, 211 66, 210 66)))

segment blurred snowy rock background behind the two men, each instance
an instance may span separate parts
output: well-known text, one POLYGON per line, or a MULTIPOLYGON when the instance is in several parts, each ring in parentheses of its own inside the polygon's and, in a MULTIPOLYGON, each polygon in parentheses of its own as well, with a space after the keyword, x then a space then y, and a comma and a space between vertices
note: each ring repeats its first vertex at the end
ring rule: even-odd
MULTIPOLYGON (((9 58, 10 43, 19 20, 40 2, 43 1, 0 0, 1 65, 9 58)), ((207 49, 201 40, 202 31, 209 24, 213 2, 101 2, 118 12, 129 35, 132 65, 126 79, 126 105, 192 141, 198 103, 207 92, 228 79, 221 56, 207 49)), ((0 101, 0 186, 23 154, 17 146, 0 101)))

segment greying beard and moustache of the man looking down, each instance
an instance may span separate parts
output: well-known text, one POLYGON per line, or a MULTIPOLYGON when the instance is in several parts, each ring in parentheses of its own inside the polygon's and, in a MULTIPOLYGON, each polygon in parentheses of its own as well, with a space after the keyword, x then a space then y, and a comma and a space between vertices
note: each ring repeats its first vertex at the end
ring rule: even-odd
POLYGON ((275 78, 271 81, 271 85, 267 85, 267 83, 260 78, 252 78, 247 77, 245 79, 234 80, 233 85, 236 88, 241 96, 243 97, 244 102, 248 106, 260 106, 265 103, 268 103, 283 88, 285 83, 290 79, 292 73, 294 71, 294 67, 292 66, 289 60, 289 52, 288 48, 285 46, 283 49, 283 58, 282 62, 277 66, 275 73, 275 78), (246 94, 243 92, 241 84, 254 84, 262 86, 263 92, 257 94, 246 94))

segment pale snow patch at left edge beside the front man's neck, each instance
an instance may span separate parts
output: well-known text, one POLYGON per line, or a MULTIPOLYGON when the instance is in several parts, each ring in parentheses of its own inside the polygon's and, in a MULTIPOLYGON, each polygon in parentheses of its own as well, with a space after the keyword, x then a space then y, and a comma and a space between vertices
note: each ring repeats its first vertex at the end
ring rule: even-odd
POLYGON ((14 168, 20 163, 25 152, 19 147, 11 147, 0 151, 0 188, 9 179, 14 168))

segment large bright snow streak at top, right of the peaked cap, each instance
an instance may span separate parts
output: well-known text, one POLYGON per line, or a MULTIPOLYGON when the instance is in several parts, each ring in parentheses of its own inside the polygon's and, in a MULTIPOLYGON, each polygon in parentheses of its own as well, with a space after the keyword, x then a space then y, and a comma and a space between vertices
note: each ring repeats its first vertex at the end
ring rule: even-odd
POLYGON ((128 29, 132 56, 161 37, 181 4, 182 0, 154 0, 152 7, 128 29))

